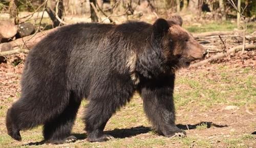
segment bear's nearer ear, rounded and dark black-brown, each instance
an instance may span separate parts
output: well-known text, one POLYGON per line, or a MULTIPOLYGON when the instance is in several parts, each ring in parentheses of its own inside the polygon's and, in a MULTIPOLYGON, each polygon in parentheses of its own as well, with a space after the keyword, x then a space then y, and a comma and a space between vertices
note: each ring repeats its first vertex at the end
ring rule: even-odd
POLYGON ((163 19, 159 18, 153 24, 153 32, 155 37, 162 37, 164 33, 168 32, 170 25, 168 22, 163 19))

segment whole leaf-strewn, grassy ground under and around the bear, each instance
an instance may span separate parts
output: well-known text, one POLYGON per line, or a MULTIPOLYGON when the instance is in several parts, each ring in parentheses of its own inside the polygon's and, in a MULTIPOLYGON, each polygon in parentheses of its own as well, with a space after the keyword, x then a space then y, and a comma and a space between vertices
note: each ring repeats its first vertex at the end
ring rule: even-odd
POLYGON ((7 135, 7 108, 19 98, 20 76, 26 54, 7 56, 0 64, 0 145, 2 147, 256 147, 256 52, 237 53, 221 61, 177 73, 175 103, 177 125, 186 130, 185 138, 166 138, 150 129, 142 100, 132 101, 110 119, 105 131, 115 137, 106 142, 86 141, 83 101, 73 128, 79 138, 60 145, 42 141, 41 127, 21 132, 23 141, 7 135), (20 62, 20 63, 19 63, 20 62), (254 134, 252 134, 254 132, 254 134))

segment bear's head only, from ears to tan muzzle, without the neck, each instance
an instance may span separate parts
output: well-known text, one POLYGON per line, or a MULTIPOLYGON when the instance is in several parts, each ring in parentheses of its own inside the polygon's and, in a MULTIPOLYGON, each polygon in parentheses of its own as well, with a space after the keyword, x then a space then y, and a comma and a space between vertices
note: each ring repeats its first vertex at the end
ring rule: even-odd
POLYGON ((180 16, 171 20, 157 19, 153 24, 152 42, 161 50, 163 62, 172 69, 189 66, 190 62, 203 58, 207 51, 193 36, 181 27, 180 16))

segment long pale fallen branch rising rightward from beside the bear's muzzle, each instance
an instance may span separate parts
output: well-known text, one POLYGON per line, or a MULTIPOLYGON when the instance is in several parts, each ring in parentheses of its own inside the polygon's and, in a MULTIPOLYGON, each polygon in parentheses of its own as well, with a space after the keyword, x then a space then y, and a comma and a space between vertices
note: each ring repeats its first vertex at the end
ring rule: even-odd
MULTIPOLYGON (((198 63, 191 64, 191 67, 198 67, 198 66, 205 65, 205 64, 207 64, 208 62, 210 62, 212 60, 216 60, 218 58, 226 56, 227 54, 240 51, 240 50, 242 50, 242 48, 243 48, 243 45, 239 45, 239 46, 233 47, 233 48, 227 50, 226 53, 223 53, 223 52, 217 53, 216 55, 211 56, 211 57, 207 58, 206 60, 200 61, 198 63)), ((247 45, 245 45, 245 49, 255 49, 255 48, 256 48, 256 45, 254 45, 254 44, 247 44, 247 45)))

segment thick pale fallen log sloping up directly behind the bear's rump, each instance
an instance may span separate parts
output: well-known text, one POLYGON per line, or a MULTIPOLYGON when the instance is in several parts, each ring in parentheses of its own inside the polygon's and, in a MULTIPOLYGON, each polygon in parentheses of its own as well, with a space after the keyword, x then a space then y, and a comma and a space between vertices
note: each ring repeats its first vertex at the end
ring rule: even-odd
POLYGON ((23 49, 31 49, 33 46, 41 41, 47 34, 52 33, 56 31, 58 27, 44 31, 44 32, 39 32, 37 34, 27 36, 24 38, 20 38, 14 41, 9 42, 13 48, 20 47, 23 49))

